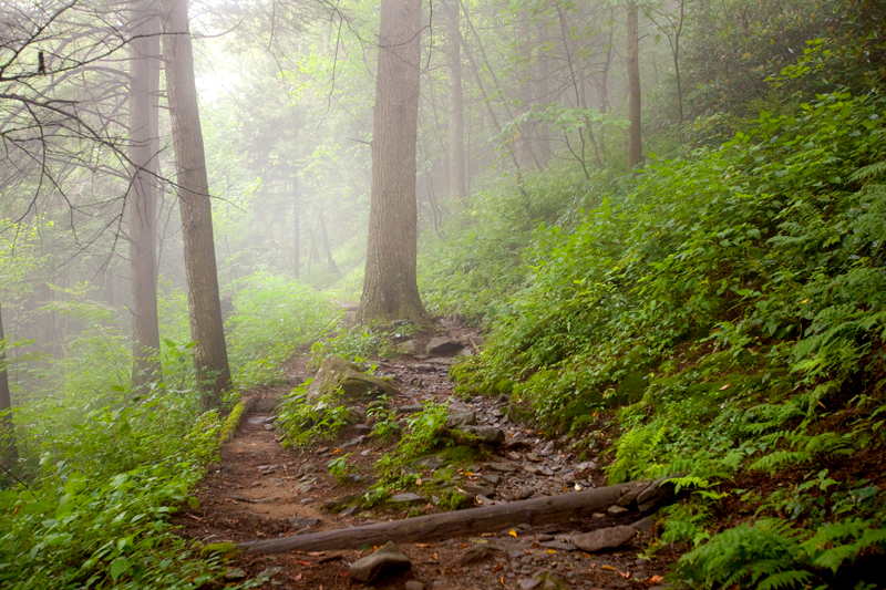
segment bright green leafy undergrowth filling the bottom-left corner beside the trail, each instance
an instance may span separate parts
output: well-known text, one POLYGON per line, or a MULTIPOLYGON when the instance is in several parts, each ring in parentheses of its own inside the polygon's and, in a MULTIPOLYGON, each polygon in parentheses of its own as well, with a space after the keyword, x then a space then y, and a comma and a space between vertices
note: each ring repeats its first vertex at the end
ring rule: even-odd
MULTIPOLYGON (((220 421, 194 395, 155 393, 40 433, 29 488, 0 491, 4 588, 199 588, 217 558, 174 536, 168 516, 218 448, 220 421)), ((29 444, 29 448, 32 448, 29 444)))

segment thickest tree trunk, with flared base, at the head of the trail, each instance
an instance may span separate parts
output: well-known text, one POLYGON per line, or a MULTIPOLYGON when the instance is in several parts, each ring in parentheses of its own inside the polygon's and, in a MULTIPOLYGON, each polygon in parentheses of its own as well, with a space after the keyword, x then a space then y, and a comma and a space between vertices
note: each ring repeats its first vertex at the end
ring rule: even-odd
POLYGON ((372 193, 363 294, 358 321, 426 312, 415 272, 421 0, 382 0, 372 131, 372 193))

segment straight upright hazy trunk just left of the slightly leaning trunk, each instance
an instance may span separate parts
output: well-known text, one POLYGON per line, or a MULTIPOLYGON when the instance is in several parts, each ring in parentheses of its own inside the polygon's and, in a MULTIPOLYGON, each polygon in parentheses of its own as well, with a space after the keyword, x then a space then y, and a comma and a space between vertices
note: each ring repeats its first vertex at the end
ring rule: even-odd
POLYGON ((130 269, 133 313, 133 391, 161 379, 157 318, 157 157, 159 152, 159 15, 154 0, 132 10, 130 42, 130 269))

